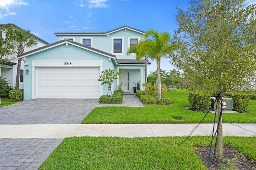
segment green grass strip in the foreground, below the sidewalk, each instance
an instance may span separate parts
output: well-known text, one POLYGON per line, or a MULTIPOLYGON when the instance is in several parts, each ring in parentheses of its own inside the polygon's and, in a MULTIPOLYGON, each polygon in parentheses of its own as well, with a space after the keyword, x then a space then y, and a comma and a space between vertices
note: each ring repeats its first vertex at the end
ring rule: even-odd
MULTIPOLYGON (((206 147, 210 136, 186 137, 71 137, 50 154, 39 170, 174 169, 206 170, 194 151, 206 147)), ((256 160, 256 137, 224 137, 224 145, 256 160)), ((207 155, 206 155, 207 156, 207 155)))

